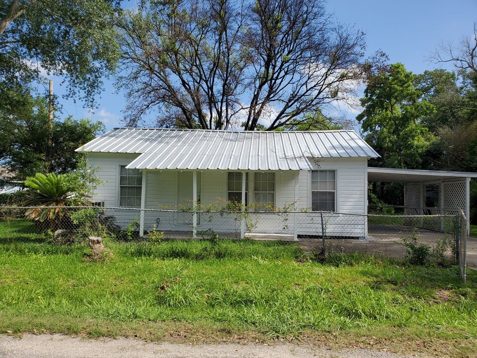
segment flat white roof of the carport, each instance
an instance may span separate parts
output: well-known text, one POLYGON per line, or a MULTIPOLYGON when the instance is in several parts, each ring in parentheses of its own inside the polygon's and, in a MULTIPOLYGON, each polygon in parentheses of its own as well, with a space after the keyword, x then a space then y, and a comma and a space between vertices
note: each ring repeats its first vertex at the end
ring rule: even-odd
POLYGON ((464 178, 477 178, 477 173, 368 167, 368 181, 418 182, 464 178))

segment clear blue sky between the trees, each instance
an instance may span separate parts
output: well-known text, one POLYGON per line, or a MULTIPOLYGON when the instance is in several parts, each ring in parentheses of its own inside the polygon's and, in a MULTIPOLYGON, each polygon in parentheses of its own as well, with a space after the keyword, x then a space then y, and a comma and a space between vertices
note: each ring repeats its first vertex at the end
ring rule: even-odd
MULTIPOLYGON (((368 55, 382 49, 391 63, 402 62, 414 73, 442 67, 429 63, 426 57, 441 42, 457 44, 463 36, 470 36, 477 21, 476 0, 329 0, 327 7, 338 21, 366 33, 368 55)), ((81 102, 62 98, 65 89, 59 85, 61 79, 53 80, 64 116, 101 120, 107 129, 123 125, 124 94, 115 93, 112 81, 105 81, 104 92, 96 98, 99 106, 91 113, 81 102)), ((44 92, 43 87, 38 90, 44 92)))

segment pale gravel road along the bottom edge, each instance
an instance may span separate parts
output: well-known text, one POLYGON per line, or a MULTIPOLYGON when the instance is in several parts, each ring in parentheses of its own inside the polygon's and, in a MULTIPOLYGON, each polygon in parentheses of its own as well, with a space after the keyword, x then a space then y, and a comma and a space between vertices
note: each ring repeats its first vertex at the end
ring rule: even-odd
MULTIPOLYGON (((311 350, 291 343, 188 345, 145 343, 132 338, 82 339, 65 335, 0 335, 0 358, 408 358, 389 352, 311 350)), ((414 356, 415 357, 415 356, 414 356)))

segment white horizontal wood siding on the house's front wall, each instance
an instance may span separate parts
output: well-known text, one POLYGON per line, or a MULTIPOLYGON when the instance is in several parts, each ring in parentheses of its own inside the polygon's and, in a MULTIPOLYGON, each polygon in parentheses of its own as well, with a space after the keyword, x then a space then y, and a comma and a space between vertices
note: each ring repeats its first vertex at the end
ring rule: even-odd
MULTIPOLYGON (((105 181, 93 193, 93 200, 104 201, 105 206, 118 206, 119 166, 132 162, 138 154, 90 153, 88 164, 99 167, 98 177, 105 181)), ((336 171, 336 210, 340 213, 366 213, 366 166, 364 158, 323 159, 314 165, 316 170, 336 171)), ((177 171, 148 171, 146 209, 174 209, 177 204, 177 171)), ((210 205, 227 199, 227 171, 201 172, 201 203, 210 205)), ((311 171, 275 172, 275 204, 284 207, 295 201, 295 177, 298 174, 297 209, 311 208, 311 171)), ((249 173, 249 202, 253 200, 253 175, 249 173)), ((118 221, 129 223, 137 213, 115 211, 118 221)), ((298 234, 321 235, 319 213, 278 216, 273 213, 251 214, 252 232, 293 233, 293 224, 299 223, 298 234), (318 216, 317 216, 318 215, 318 216)), ((191 219, 192 220, 192 219, 191 219)), ((160 230, 191 230, 190 225, 177 225, 174 213, 146 212, 145 230, 158 224, 160 230)), ((364 217, 330 215, 326 218, 327 235, 366 236, 364 217)), ((125 225, 122 225, 125 226, 125 225)), ((234 214, 202 214, 198 230, 238 231, 239 221, 234 214)))

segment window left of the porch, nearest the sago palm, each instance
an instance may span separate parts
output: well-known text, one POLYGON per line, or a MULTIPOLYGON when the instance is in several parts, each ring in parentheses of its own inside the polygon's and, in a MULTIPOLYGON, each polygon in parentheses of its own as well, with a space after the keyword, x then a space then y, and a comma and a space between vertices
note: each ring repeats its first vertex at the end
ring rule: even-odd
POLYGON ((119 206, 141 207, 143 174, 139 169, 119 168, 119 206))

